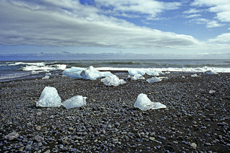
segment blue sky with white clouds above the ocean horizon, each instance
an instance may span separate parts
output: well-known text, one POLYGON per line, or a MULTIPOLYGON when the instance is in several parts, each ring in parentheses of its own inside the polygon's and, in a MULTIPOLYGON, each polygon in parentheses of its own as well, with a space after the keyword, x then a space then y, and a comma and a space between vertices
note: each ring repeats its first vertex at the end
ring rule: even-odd
POLYGON ((0 0, 0 4, 0 57, 86 53, 230 58, 230 0, 0 0))

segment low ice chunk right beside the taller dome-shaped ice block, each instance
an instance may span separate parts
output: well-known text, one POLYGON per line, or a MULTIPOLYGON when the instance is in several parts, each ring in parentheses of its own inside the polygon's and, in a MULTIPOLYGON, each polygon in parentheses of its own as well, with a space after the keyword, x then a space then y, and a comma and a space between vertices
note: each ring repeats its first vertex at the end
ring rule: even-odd
POLYGON ((70 99, 67 99, 62 104, 66 109, 74 108, 74 107, 81 107, 81 106, 86 105, 86 98, 87 97, 82 97, 80 95, 77 95, 70 99))

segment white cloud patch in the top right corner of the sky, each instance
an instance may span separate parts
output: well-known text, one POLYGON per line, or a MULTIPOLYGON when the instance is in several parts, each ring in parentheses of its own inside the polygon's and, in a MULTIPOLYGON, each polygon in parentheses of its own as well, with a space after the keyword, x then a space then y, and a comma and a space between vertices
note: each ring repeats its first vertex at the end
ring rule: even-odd
POLYGON ((229 0, 195 0, 192 6, 207 6, 209 7, 209 12, 216 13, 216 19, 221 22, 230 22, 229 0))

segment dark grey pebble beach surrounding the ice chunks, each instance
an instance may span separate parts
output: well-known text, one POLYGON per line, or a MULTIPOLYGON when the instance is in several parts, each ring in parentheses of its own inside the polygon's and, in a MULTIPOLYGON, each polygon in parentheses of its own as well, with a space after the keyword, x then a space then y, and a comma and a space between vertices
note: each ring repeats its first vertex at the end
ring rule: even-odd
POLYGON ((0 82, 0 152, 230 152, 230 74, 164 76, 117 87, 61 76, 0 82), (36 108, 46 86, 87 104, 36 108), (134 108, 140 93, 167 108, 134 108))

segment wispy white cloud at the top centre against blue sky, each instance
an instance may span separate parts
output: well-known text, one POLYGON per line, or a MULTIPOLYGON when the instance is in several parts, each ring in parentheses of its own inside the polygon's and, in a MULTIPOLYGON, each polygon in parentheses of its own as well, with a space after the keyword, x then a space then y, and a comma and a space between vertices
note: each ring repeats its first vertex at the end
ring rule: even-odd
POLYGON ((136 14, 146 17, 156 17, 166 10, 175 10, 181 6, 179 2, 160 2, 155 0, 95 0, 99 8, 104 9, 103 13, 116 16, 135 17, 136 14))

